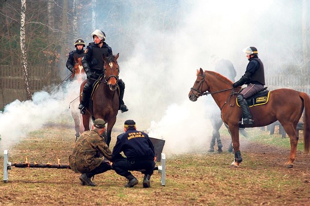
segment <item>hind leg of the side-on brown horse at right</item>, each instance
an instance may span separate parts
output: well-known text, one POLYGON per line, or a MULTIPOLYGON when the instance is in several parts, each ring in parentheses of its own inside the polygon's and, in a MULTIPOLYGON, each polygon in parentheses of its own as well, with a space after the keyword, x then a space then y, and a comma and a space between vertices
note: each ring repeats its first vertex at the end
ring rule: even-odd
POLYGON ((285 163, 287 168, 293 167, 293 162, 295 160, 296 150, 297 150, 297 143, 298 143, 298 137, 296 132, 296 126, 297 123, 282 123, 280 122, 285 130, 285 132, 290 137, 291 142, 291 153, 289 160, 285 163))

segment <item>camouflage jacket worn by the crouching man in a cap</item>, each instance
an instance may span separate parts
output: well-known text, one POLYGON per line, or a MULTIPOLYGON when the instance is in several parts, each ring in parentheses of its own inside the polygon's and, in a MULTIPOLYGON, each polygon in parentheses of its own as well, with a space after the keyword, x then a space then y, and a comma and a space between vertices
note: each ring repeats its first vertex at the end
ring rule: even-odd
POLYGON ((90 172, 103 161, 101 155, 111 161, 112 152, 104 138, 94 130, 83 132, 75 143, 72 155, 69 156, 70 167, 76 173, 90 172))

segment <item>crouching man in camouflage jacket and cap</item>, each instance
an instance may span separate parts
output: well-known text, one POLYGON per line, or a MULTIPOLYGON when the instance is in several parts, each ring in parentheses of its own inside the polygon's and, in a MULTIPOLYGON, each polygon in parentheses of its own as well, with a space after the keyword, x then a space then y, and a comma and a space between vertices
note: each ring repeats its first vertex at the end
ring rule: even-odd
POLYGON ((72 155, 69 156, 71 169, 76 173, 82 173, 79 177, 82 185, 96 186, 91 177, 112 169, 109 163, 112 152, 102 136, 105 124, 103 119, 95 119, 93 130, 83 132, 78 137, 72 155), (109 161, 103 161, 104 157, 109 161))

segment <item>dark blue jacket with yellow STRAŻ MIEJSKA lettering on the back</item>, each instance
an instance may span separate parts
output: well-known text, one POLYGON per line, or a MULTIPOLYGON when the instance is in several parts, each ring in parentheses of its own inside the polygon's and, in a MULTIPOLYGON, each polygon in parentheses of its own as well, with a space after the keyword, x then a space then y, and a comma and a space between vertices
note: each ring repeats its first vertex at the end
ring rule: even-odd
POLYGON ((116 144, 112 151, 112 162, 124 157, 120 154, 124 152, 127 160, 154 160, 155 150, 149 136, 128 128, 126 132, 117 136, 116 144))

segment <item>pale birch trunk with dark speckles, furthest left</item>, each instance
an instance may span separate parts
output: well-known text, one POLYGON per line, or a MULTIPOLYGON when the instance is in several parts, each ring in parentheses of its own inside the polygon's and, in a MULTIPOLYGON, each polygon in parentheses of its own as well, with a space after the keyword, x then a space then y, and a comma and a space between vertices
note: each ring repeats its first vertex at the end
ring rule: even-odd
POLYGON ((26 19, 26 1, 21 0, 21 11, 20 11, 20 50, 21 50, 21 65, 24 75, 24 83, 27 94, 27 100, 31 100, 31 79, 28 71, 27 65, 27 51, 25 48, 25 38, 26 38, 26 27, 25 27, 25 19, 26 19))

